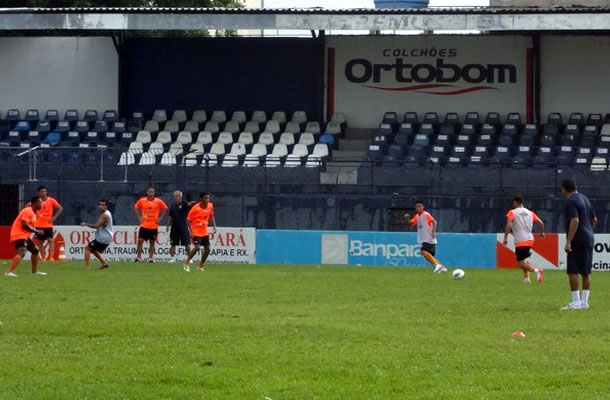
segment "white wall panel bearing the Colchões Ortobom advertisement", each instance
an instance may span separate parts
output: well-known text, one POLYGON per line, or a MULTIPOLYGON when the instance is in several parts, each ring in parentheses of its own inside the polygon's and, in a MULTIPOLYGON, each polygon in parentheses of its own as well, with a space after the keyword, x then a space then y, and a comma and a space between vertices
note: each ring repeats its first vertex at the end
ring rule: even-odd
POLYGON ((329 110, 358 128, 377 127, 386 111, 524 118, 530 47, 524 36, 329 37, 329 110))

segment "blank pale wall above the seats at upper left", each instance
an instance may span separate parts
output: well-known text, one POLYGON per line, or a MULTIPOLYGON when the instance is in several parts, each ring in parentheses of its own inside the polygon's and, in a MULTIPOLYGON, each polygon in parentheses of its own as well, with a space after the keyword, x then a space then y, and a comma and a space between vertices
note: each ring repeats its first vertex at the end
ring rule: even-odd
POLYGON ((118 107, 118 57, 105 37, 0 38, 0 113, 118 107))

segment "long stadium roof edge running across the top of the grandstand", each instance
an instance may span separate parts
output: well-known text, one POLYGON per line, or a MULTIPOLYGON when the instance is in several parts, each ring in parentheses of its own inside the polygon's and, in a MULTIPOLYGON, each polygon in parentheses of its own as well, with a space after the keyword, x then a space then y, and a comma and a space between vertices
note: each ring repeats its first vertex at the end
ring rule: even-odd
POLYGON ((4 8, 0 31, 198 29, 610 31, 610 8, 4 8))

